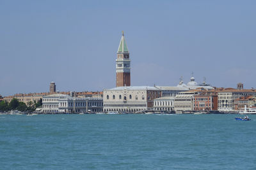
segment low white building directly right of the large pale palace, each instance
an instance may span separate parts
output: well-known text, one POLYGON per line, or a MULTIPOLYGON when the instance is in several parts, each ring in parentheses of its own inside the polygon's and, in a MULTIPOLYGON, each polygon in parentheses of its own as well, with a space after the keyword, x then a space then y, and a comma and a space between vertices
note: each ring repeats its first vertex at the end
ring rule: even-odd
POLYGON ((159 97, 154 99, 155 112, 172 112, 174 111, 174 97, 159 97))

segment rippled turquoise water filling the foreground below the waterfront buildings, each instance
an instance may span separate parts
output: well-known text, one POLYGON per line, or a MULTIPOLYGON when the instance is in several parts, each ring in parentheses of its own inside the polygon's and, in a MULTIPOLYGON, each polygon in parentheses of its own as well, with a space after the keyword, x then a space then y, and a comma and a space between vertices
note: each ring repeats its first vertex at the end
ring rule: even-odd
POLYGON ((0 115, 0 169, 256 169, 256 115, 0 115))

